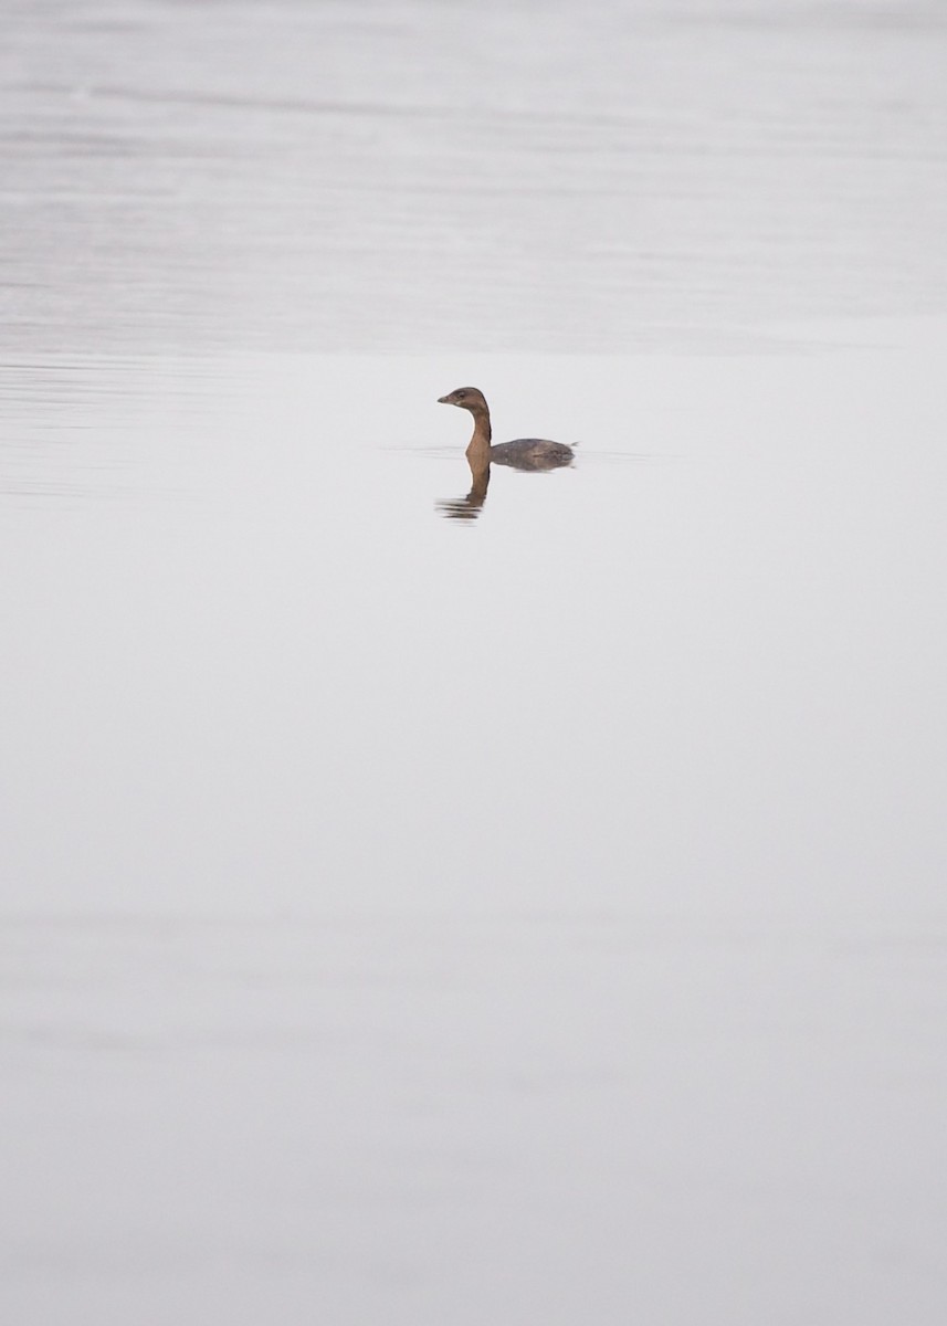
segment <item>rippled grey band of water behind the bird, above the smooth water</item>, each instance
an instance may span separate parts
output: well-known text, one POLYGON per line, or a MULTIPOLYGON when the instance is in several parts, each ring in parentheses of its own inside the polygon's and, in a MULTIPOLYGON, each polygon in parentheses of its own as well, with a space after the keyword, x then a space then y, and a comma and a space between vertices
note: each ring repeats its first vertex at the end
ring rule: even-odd
POLYGON ((946 33, 938 0, 7 0, 1 345, 615 353, 942 313, 946 33))

